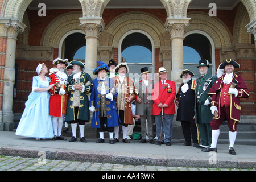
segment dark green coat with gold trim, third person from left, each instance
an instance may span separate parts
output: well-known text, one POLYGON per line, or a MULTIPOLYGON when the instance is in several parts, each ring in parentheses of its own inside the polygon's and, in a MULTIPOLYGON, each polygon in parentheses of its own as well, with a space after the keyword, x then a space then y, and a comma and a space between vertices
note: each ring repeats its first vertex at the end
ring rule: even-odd
MULTIPOLYGON (((82 72, 80 76, 80 84, 85 85, 87 81, 90 81, 93 83, 92 78, 88 73, 82 72)), ((67 93, 69 94, 68 98, 68 106, 67 106, 67 114, 65 121, 73 121, 75 120, 75 112, 74 112, 74 107, 73 107, 73 93, 74 90, 72 89, 72 85, 75 85, 75 80, 73 79, 73 75, 68 77, 68 82, 66 85, 66 90, 67 93)), ((78 111, 78 117, 77 119, 84 120, 86 122, 90 121, 90 113, 89 113, 89 98, 88 95, 89 93, 92 92, 92 87, 91 86, 86 86, 85 85, 85 90, 84 92, 80 92, 80 100, 79 100, 79 111, 78 111)))

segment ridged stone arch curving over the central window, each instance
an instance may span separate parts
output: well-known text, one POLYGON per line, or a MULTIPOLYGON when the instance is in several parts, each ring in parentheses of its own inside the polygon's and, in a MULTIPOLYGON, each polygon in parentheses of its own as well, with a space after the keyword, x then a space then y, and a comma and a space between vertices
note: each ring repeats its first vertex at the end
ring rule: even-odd
POLYGON ((108 24, 106 32, 111 35, 109 44, 117 48, 123 34, 131 30, 143 30, 154 39, 155 47, 164 46, 166 39, 164 24, 157 17, 139 11, 121 14, 108 24))

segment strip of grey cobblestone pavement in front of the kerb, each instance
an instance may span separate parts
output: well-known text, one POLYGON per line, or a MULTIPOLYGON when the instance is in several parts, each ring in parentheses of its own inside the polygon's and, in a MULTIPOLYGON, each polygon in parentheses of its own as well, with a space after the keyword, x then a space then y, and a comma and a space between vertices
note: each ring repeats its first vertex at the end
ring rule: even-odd
POLYGON ((147 165, 123 165, 110 163, 91 163, 67 160, 48 160, 22 158, 19 156, 0 156, 0 171, 255 171, 254 169, 234 168, 191 168, 147 165))

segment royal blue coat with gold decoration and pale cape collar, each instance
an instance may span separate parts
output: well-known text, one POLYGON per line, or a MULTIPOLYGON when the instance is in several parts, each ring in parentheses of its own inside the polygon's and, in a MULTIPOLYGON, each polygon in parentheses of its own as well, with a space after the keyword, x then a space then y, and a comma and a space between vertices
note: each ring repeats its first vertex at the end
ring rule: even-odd
MULTIPOLYGON (((93 80, 93 89, 92 89, 92 94, 90 95, 90 107, 95 107, 94 113, 93 113, 93 118, 92 118, 92 125, 91 127, 96 127, 100 128, 100 119, 99 119, 99 114, 100 114, 100 99, 101 99, 101 85, 100 84, 100 79, 96 78, 93 80)), ((119 126, 119 123, 121 123, 118 111, 117 111, 117 106, 115 104, 114 98, 117 97, 117 91, 115 90, 114 86, 114 80, 112 78, 106 77, 106 79, 103 81, 106 89, 106 94, 112 93, 113 94, 113 101, 109 100, 106 98, 106 125, 107 127, 114 127, 114 126, 119 126)))

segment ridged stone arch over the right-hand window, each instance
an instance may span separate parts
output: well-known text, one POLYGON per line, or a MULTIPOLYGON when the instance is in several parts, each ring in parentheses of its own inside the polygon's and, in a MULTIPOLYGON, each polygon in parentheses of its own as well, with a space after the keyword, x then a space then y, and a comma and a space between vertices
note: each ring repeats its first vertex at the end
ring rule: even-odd
POLYGON ((228 27, 220 19, 212 18, 208 14, 195 11, 189 13, 188 17, 191 20, 184 34, 192 30, 201 30, 210 35, 217 49, 232 46, 232 35, 228 27))

